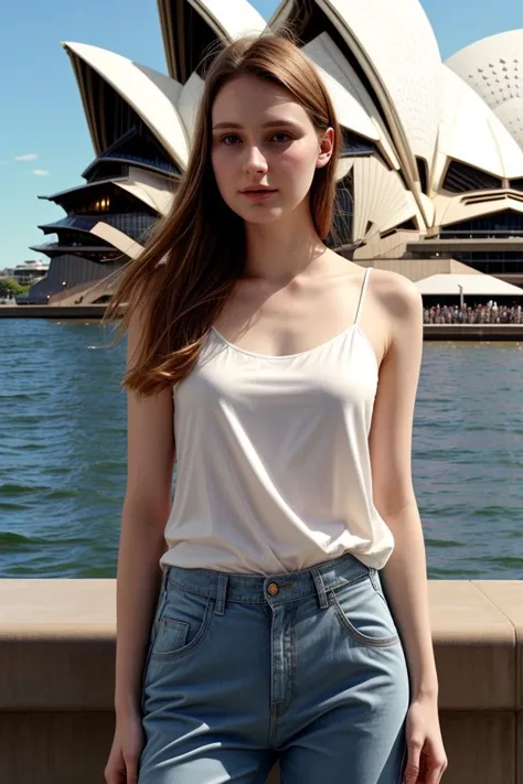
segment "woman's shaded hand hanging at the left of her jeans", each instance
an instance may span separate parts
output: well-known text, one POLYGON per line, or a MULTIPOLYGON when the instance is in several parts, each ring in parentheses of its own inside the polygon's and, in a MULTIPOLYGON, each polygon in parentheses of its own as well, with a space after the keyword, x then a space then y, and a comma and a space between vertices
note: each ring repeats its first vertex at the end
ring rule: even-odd
POLYGON ((137 784, 143 741, 141 717, 138 713, 117 715, 113 748, 104 771, 107 784, 137 784))

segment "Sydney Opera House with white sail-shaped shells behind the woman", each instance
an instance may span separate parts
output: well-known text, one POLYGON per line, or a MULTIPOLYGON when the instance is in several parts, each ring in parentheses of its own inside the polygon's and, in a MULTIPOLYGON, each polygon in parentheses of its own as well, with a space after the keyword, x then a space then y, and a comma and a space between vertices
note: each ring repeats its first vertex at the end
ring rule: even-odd
POLYGON ((110 298, 183 174, 207 47, 282 24, 343 130, 331 244, 412 280, 487 273, 523 293, 523 30, 444 63, 418 0, 281 0, 270 20, 247 0, 158 0, 158 11, 167 74, 64 44, 94 160, 83 184, 45 196, 64 217, 40 227, 56 238, 33 248, 51 264, 31 302, 110 298))

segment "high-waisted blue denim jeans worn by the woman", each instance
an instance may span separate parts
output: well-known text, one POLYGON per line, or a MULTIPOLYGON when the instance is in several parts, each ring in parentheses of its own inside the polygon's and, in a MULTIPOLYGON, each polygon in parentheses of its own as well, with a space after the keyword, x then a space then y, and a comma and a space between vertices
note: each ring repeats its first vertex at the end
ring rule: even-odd
POLYGON ((409 679, 380 573, 166 567, 139 784, 399 784, 409 679))

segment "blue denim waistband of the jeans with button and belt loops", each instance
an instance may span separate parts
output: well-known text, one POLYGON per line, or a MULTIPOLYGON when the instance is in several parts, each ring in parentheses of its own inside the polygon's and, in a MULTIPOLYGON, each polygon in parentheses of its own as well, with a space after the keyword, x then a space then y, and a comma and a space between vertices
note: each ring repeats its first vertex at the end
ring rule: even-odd
POLYGON ((172 584, 213 599, 215 612, 223 614, 226 601, 274 606, 314 594, 320 608, 324 609, 328 606, 327 591, 367 576, 374 581, 375 570, 349 552, 307 569, 270 576, 167 566, 162 584, 166 590, 172 584))

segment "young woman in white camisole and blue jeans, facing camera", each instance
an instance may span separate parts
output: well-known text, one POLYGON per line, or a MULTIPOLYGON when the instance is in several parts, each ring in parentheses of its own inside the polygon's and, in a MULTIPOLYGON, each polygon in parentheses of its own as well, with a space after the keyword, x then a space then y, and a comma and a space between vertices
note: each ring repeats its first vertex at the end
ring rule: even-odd
POLYGON ((227 46, 172 211, 107 312, 127 303, 107 784, 447 766, 410 476, 421 300, 325 247, 339 152, 299 49, 227 46))

